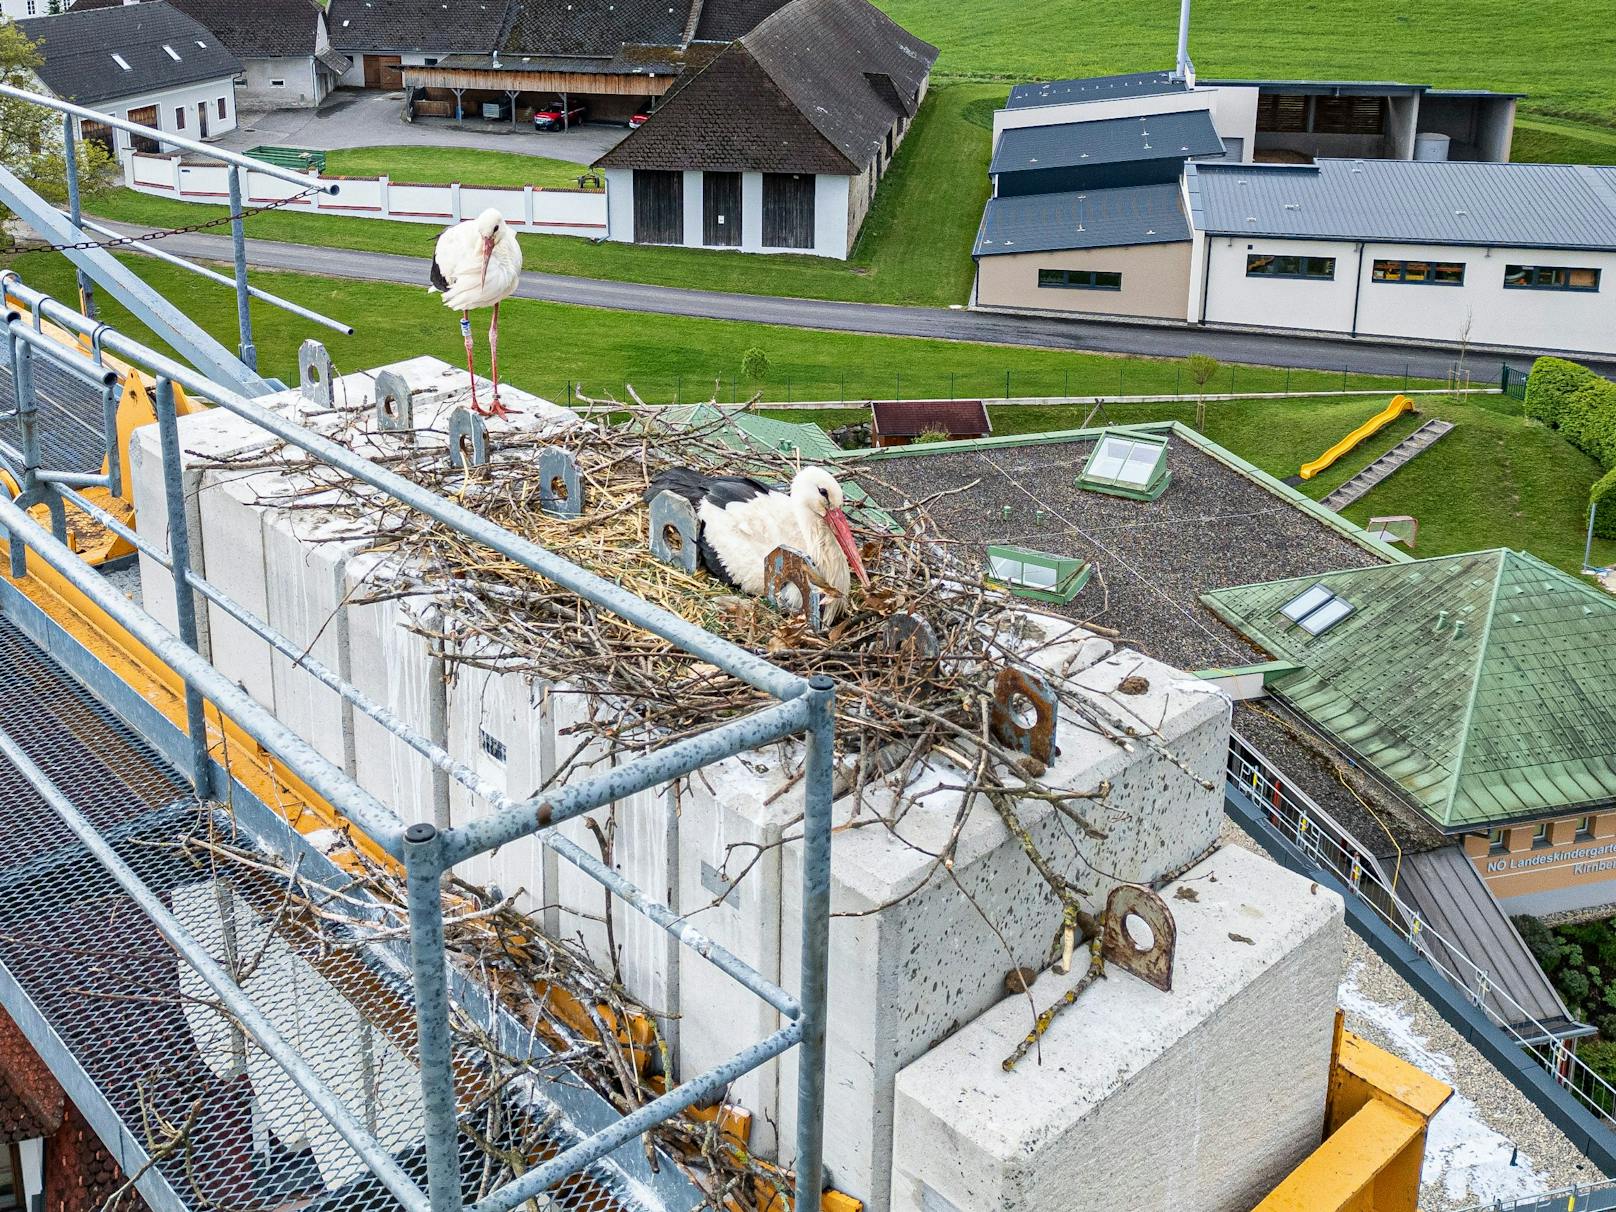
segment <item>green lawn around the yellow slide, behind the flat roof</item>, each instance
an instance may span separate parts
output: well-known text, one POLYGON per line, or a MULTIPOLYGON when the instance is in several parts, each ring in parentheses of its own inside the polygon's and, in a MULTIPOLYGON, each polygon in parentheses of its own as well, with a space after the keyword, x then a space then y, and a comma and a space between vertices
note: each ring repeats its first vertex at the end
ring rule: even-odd
MULTIPOLYGON (((1320 499, 1424 420, 1451 420, 1456 428, 1448 436, 1349 506, 1346 517, 1359 525, 1382 514, 1417 517, 1420 532, 1414 554, 1511 546, 1576 572, 1582 567, 1589 488, 1601 473, 1598 464, 1542 425, 1500 412, 1496 401, 1488 399, 1488 404, 1492 407, 1422 396, 1419 407, 1424 415, 1393 422, 1301 485, 1301 491, 1320 499)), ((1364 396, 1210 402, 1207 436, 1270 475, 1285 478, 1378 409, 1380 401, 1364 396)), ((1010 435, 1073 428, 1084 422, 1089 410, 1000 406, 991 412, 994 433, 1010 435)), ((818 420, 827 428, 869 419, 866 410, 858 409, 776 410, 769 415, 818 420)), ((1189 425, 1194 404, 1110 404, 1094 423, 1146 420, 1189 425)), ((1595 541, 1593 562, 1616 562, 1616 541, 1595 541)))

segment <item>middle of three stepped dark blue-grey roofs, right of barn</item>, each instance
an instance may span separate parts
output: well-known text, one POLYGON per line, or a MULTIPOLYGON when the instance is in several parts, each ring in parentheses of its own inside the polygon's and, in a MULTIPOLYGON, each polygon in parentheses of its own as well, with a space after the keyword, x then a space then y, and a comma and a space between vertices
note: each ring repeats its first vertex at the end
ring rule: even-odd
POLYGON ((999 136, 989 173, 1183 160, 1220 155, 1223 141, 1207 110, 1143 113, 1052 126, 1012 126, 999 136))

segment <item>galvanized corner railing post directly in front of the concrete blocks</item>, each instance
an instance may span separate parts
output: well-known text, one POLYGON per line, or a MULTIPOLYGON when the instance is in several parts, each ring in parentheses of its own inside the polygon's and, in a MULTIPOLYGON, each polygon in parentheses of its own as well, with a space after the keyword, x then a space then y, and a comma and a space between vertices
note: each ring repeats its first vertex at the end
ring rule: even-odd
POLYGON ((797 1212, 818 1212, 824 1189, 824 1023, 831 950, 831 800, 835 768, 835 684, 808 682, 803 769, 802 1026, 797 1055, 797 1212))

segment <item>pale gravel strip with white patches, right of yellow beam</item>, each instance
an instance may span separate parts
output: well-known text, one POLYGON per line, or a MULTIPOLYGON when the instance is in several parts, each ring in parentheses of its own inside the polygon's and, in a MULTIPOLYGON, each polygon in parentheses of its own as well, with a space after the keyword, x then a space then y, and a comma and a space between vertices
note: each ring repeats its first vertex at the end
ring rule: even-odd
MULTIPOLYGON (((1230 821, 1222 840, 1262 853, 1230 821)), ((1514 1084, 1346 931, 1341 1008, 1346 1028, 1454 1088, 1430 1125, 1420 1212, 1458 1212, 1601 1178, 1514 1084), (1513 1160, 1511 1160, 1513 1159, 1513 1160)))

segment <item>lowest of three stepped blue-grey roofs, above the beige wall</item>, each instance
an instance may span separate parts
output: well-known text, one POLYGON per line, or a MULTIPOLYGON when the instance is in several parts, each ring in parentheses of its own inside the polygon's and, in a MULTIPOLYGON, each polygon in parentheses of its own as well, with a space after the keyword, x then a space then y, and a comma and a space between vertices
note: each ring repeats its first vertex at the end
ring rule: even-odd
POLYGON ((992 197, 976 233, 976 257, 1057 249, 1110 249, 1189 239, 1178 186, 1118 186, 1067 194, 992 197))

